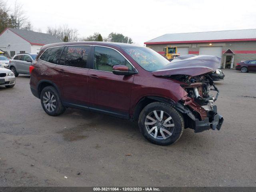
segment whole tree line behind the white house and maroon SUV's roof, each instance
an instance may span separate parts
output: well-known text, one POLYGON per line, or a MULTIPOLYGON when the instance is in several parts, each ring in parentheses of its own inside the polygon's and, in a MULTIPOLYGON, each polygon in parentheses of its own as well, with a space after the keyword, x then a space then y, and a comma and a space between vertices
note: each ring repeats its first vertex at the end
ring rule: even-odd
MULTIPOLYGON (((6 28, 16 28, 22 30, 30 30, 42 32, 41 29, 34 30, 31 22, 23 11, 22 4, 15 2, 14 8, 10 9, 6 1, 0 0, 0 33, 6 28)), ((93 35, 87 37, 79 37, 76 28, 70 28, 67 24, 47 27, 47 34, 55 36, 64 42, 74 41, 106 41, 106 42, 120 42, 132 44, 132 38, 124 36, 121 33, 111 32, 107 37, 102 37, 100 33, 95 32, 93 35)))

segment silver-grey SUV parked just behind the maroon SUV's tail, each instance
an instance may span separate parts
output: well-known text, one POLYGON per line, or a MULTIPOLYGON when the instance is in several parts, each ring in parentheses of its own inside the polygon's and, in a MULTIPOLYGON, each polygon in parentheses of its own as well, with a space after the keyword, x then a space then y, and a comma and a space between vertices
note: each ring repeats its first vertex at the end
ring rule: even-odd
POLYGON ((19 74, 29 75, 29 67, 36 58, 36 54, 20 53, 13 56, 10 60, 10 70, 14 72, 15 76, 19 74))

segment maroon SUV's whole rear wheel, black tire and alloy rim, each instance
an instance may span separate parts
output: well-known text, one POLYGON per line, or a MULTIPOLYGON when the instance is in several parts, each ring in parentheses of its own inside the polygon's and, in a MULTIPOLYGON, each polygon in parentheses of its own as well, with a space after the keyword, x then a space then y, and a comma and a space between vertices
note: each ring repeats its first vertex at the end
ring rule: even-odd
POLYGON ((45 87, 41 92, 40 99, 44 111, 50 116, 58 116, 66 110, 58 91, 53 86, 45 87))

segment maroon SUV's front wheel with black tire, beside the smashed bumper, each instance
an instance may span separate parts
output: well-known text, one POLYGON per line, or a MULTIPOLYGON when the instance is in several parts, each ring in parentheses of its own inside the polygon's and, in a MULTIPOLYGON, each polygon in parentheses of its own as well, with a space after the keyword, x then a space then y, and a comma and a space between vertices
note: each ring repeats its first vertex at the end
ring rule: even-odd
MULTIPOLYGON (((155 118, 153 118, 153 119, 155 119, 155 118)), ((152 123, 152 122, 149 122, 149 123, 152 123)), ((162 120, 162 122, 163 122, 163 120, 162 120)), ((142 135, 150 142, 152 142, 154 144, 158 144, 158 145, 170 145, 170 144, 175 143, 180 138, 180 136, 182 135, 182 132, 184 130, 183 116, 177 110, 175 110, 172 106, 162 103, 162 102, 153 102, 153 103, 148 104, 140 112, 140 117, 139 117, 138 123, 139 123, 140 132, 142 133, 142 135), (151 127, 149 125, 148 126, 145 125, 146 121, 148 121, 147 116, 150 116, 150 114, 152 114, 152 112, 154 112, 154 111, 157 111, 157 112, 164 111, 164 114, 166 114, 166 117, 168 115, 171 117, 171 120, 170 120, 171 122, 170 121, 168 121, 168 122, 170 122, 170 124, 174 124, 174 126, 168 130, 172 134, 167 135, 168 137, 166 136, 166 138, 164 138, 162 136, 162 133, 160 133, 161 127, 163 128, 162 130, 168 129, 167 127, 164 127, 163 123, 162 123, 162 126, 161 125, 159 126, 160 129, 158 129, 157 134, 156 134, 156 130, 154 130, 152 132, 149 131, 149 129, 150 130, 153 129, 152 126, 159 128, 157 124, 160 123, 161 121, 157 122, 154 125, 150 125, 151 127), (148 132, 150 132, 150 134, 148 132), (154 138, 151 135, 153 133, 156 135, 159 135, 159 136, 157 136, 157 138, 154 138)), ((166 134, 166 132, 164 132, 164 133, 166 134)))

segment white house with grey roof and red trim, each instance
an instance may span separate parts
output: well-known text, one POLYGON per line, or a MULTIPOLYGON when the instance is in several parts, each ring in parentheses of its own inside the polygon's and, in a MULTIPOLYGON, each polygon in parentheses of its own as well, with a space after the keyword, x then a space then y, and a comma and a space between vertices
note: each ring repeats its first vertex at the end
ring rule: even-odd
POLYGON ((6 28, 0 34, 0 49, 10 57, 18 53, 35 54, 43 45, 58 42, 62 41, 50 34, 14 28, 6 28))

